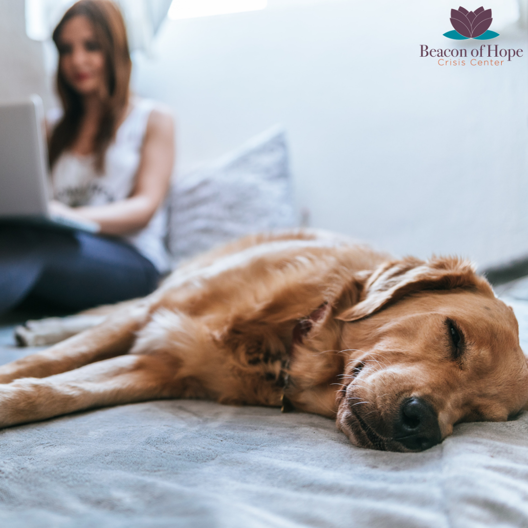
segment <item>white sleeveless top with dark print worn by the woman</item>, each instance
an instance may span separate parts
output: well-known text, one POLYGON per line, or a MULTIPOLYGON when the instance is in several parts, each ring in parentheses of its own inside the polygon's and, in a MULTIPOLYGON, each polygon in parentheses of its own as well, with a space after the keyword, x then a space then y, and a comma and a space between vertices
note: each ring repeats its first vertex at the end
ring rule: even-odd
MULTIPOLYGON (((130 196, 136 183, 148 117, 156 103, 134 98, 131 105, 132 109, 106 151, 103 174, 95 171, 93 154, 78 156, 63 152, 60 155, 52 171, 55 200, 76 207, 103 205, 130 196)), ((162 205, 145 228, 123 237, 161 273, 169 269, 164 244, 166 229, 166 206, 162 205)))

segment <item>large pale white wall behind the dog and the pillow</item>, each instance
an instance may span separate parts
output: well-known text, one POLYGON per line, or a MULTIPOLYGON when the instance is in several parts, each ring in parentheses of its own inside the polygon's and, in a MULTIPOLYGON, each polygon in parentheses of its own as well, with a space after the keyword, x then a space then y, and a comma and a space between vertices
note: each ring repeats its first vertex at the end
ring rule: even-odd
POLYGON ((528 254, 528 39, 486 42, 526 50, 501 68, 439 67, 420 44, 477 42, 442 36, 451 4, 270 0, 166 21, 135 87, 174 107, 182 169, 281 122, 312 225, 487 266, 528 254))

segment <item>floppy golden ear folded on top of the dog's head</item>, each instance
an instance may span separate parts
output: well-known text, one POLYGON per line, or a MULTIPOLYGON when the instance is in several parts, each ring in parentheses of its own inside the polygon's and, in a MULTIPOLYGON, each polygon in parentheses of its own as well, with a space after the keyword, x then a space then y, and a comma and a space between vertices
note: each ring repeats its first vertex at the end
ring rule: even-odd
POLYGON ((408 257, 385 262, 366 279, 360 302, 336 318, 356 321, 416 291, 461 287, 475 287, 494 295, 491 286, 475 274, 475 268, 468 260, 433 257, 425 262, 408 257))

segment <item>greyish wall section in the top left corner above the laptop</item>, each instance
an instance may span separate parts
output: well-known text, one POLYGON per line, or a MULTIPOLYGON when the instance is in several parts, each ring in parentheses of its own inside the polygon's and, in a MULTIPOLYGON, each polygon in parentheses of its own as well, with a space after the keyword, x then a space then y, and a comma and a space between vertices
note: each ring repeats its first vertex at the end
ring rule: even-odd
POLYGON ((0 100, 32 93, 50 99, 42 44, 26 36, 24 0, 0 0, 0 100))

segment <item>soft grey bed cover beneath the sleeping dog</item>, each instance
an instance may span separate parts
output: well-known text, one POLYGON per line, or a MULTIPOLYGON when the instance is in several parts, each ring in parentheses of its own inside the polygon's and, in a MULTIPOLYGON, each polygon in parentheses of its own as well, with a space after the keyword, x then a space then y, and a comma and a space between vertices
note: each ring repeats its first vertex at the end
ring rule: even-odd
MULTIPOLYGON (((528 303, 507 300, 528 351, 528 303)), ((5 328, 1 362, 30 352, 10 342, 5 328)), ((356 448, 332 420, 277 409, 77 413, 0 431, 0 526, 528 526, 528 413, 419 454, 356 448)))

